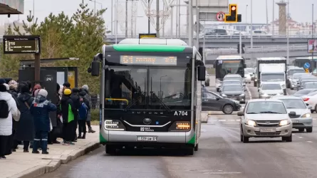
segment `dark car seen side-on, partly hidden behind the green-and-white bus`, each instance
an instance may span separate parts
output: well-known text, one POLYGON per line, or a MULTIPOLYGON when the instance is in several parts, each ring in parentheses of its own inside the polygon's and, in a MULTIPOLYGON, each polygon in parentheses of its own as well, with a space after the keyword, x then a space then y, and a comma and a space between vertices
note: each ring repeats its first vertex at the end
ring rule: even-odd
POLYGON ((241 105, 237 100, 223 98, 216 93, 202 90, 202 111, 222 111, 226 115, 231 115, 240 108, 241 105))

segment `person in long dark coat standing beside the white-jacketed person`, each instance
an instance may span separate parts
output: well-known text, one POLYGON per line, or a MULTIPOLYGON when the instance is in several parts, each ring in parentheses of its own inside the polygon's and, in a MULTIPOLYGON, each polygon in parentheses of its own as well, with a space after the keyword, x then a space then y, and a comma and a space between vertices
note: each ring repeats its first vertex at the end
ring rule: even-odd
MULTIPOLYGON (((28 146, 30 141, 34 138, 34 124, 33 117, 29 110, 34 98, 30 95, 30 90, 28 85, 21 85, 21 93, 18 96, 19 110, 21 112, 21 117, 16 128, 16 134, 14 135, 14 140, 19 140, 24 142, 24 152, 28 152, 28 146)), ((16 145, 14 145, 16 146, 16 145)))

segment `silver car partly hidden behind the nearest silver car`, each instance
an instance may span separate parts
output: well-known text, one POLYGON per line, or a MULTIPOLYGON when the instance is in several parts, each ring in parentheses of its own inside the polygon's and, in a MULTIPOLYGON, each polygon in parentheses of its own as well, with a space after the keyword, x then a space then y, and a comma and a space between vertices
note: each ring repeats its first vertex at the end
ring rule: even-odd
POLYGON ((293 128, 300 132, 313 132, 313 117, 311 117, 311 105, 306 105, 301 98, 294 96, 276 96, 274 99, 283 101, 288 112, 294 111, 296 115, 291 116, 293 128))

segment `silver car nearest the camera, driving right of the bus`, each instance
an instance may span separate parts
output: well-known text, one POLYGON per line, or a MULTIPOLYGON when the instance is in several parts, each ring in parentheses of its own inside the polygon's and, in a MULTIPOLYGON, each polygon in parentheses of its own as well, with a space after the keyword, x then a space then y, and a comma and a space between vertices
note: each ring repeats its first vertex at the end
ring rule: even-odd
POLYGON ((244 111, 238 112, 240 119, 240 140, 249 142, 250 137, 282 137, 292 141, 291 118, 296 112, 288 113, 281 100, 249 100, 244 111))

